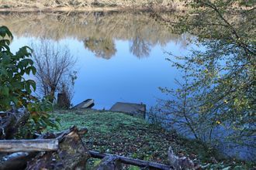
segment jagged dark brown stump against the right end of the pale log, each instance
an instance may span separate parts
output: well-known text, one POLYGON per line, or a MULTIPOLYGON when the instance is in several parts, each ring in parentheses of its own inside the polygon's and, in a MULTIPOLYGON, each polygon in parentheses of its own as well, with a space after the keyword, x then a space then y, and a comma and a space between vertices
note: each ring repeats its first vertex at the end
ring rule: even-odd
POLYGON ((40 152, 26 169, 85 169, 90 157, 88 150, 78 133, 78 128, 72 127, 57 137, 57 151, 40 152))

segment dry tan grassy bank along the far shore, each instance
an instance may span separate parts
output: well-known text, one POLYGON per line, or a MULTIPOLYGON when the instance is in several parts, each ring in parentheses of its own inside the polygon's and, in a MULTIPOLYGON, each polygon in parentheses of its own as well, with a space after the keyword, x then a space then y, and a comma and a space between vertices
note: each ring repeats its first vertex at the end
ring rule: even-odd
POLYGON ((134 8, 170 10, 184 6, 178 0, 0 0, 0 11, 122 11, 134 8))

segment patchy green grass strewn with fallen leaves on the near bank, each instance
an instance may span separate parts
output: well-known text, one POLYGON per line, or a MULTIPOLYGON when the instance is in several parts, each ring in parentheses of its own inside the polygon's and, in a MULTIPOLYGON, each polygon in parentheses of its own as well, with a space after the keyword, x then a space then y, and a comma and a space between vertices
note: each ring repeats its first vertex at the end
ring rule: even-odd
POLYGON ((83 140, 89 150, 125 155, 168 164, 167 151, 171 146, 177 155, 197 158, 205 151, 202 145, 179 138, 162 128, 130 115, 109 111, 56 111, 54 117, 61 120, 61 129, 76 125, 88 128, 83 140), (196 145, 196 146, 195 146, 196 145), (195 148, 196 147, 196 148, 195 148))

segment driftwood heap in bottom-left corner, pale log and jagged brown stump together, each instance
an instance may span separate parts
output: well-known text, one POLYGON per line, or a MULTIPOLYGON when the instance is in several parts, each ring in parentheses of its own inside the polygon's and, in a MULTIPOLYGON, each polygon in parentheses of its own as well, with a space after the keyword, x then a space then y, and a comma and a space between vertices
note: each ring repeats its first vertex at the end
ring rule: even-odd
POLYGON ((2 148, 12 151, 22 150, 10 155, 0 154, 0 169, 82 169, 89 158, 80 135, 88 130, 72 127, 60 133, 41 134, 36 140, 4 140, 2 148), (11 141, 9 143, 9 141, 11 141), (46 145, 45 141, 54 145, 46 145), (39 145, 37 145, 37 144, 39 145), (43 145, 41 145, 43 143, 43 145), (5 145, 6 144, 6 145, 5 145), (15 145, 17 144, 17 145, 15 145), (29 145, 32 147, 29 147, 29 145), (33 145, 31 145, 33 144, 33 145), (36 144, 36 145, 34 145, 36 144), (8 146, 12 145, 13 148, 8 146), (47 147, 45 147, 47 146, 47 147), (56 147, 57 146, 57 147, 56 147), (29 152, 31 151, 31 152, 29 152), (41 152, 40 152, 41 151, 41 152), (43 151, 43 152, 42 152, 43 151), (29 164, 27 164, 29 162, 29 164))

